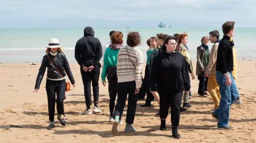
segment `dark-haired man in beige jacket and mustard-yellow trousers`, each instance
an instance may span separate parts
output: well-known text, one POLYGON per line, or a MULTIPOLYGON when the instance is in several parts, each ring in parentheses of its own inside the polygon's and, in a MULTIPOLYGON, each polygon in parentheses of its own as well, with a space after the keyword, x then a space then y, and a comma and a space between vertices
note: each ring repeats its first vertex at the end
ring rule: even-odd
POLYGON ((207 90, 212 96, 214 101, 214 109, 210 112, 214 112, 218 109, 220 104, 220 88, 216 80, 215 69, 216 69, 216 60, 217 60, 217 51, 220 43, 220 33, 218 30, 210 31, 209 39, 212 45, 212 50, 210 52, 209 62, 205 71, 205 77, 208 77, 207 90))

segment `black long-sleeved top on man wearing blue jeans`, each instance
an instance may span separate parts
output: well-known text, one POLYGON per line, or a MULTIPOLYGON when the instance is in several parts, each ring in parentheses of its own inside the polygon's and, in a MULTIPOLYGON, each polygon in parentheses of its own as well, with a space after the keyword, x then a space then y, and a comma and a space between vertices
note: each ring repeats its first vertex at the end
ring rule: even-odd
POLYGON ((216 71, 221 71, 222 74, 233 71, 233 49, 229 40, 230 37, 224 35, 218 46, 216 71))

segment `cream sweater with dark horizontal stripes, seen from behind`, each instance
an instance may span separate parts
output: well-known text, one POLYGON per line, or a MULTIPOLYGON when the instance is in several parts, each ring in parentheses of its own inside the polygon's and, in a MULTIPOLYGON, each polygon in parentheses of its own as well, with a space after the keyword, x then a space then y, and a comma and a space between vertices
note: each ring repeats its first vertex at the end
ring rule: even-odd
POLYGON ((142 68, 143 68, 143 54, 137 47, 130 47, 127 45, 120 48, 117 55, 117 77, 118 82, 136 82, 136 88, 141 87, 142 82, 142 68), (128 53, 130 58, 128 56, 128 53), (135 64, 135 67, 133 63, 135 64))

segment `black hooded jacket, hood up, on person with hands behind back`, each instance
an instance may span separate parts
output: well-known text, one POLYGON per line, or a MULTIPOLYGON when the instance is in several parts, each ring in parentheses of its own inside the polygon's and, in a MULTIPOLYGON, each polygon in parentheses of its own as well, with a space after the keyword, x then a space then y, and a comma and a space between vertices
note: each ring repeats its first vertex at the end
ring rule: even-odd
POLYGON ((100 40, 94 37, 92 27, 84 28, 84 37, 76 42, 75 58, 80 66, 99 66, 102 58, 102 45, 100 40))

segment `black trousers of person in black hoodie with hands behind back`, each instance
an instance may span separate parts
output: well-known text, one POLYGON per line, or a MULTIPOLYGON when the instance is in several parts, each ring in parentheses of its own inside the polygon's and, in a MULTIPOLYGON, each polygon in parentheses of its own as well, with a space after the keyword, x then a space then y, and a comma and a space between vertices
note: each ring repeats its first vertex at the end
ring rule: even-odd
POLYGON ((90 72, 85 72, 82 68, 80 68, 80 72, 84 84, 84 97, 86 107, 90 107, 92 105, 91 82, 94 102, 99 101, 100 67, 96 66, 90 72))

